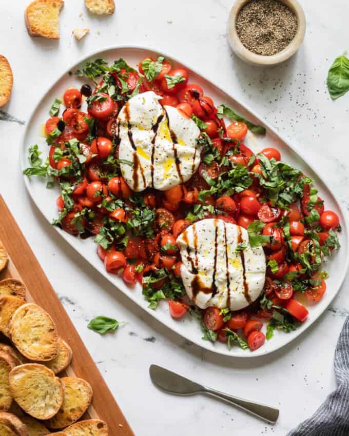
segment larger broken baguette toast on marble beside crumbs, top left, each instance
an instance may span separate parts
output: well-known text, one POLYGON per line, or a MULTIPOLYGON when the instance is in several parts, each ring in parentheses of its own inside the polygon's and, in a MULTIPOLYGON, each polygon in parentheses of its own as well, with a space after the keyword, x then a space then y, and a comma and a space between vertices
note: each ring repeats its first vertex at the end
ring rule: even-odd
POLYGON ((34 0, 25 11, 30 35, 60 39, 59 16, 63 5, 63 0, 34 0))

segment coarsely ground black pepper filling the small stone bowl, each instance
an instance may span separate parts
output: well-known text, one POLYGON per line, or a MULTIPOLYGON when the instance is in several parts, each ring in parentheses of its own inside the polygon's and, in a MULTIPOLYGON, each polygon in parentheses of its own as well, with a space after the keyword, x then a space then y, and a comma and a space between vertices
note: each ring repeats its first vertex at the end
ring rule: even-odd
POLYGON ((241 8, 236 19, 241 43, 247 50, 263 56, 287 47, 297 27, 294 12, 277 0, 251 0, 241 8))

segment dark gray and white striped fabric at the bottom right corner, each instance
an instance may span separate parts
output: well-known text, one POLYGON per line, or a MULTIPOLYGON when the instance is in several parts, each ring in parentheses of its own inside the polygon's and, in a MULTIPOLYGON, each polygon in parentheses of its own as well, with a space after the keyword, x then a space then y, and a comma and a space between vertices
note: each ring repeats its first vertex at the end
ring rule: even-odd
POLYGON ((334 366, 337 389, 287 436, 349 436, 349 317, 338 339, 334 366))

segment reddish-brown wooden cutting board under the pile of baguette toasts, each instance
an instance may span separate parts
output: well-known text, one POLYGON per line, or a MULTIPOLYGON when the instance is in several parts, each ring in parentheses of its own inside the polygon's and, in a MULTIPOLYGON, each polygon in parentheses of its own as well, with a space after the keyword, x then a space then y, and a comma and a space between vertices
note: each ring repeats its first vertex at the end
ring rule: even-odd
POLYGON ((109 436, 134 436, 1 195, 0 241, 10 256, 8 267, 0 272, 0 280, 13 278, 25 283, 28 289, 26 300, 42 306, 52 316, 60 336, 73 350, 67 375, 85 379, 92 386, 92 404, 83 419, 98 418, 105 421, 109 427, 109 436))

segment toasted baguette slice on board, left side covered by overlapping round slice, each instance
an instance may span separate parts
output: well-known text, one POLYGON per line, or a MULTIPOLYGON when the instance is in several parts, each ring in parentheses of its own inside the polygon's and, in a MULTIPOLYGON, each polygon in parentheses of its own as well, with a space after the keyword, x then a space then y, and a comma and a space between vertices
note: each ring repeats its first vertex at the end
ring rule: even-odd
POLYGON ((92 388, 83 379, 63 377, 63 404, 54 417, 45 422, 49 428, 64 428, 80 419, 92 401, 92 388))

